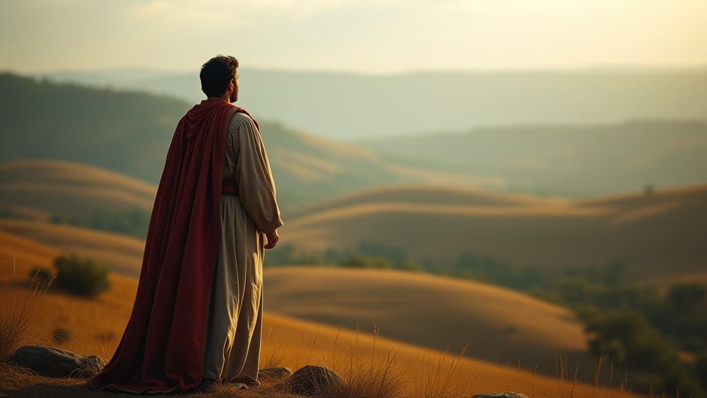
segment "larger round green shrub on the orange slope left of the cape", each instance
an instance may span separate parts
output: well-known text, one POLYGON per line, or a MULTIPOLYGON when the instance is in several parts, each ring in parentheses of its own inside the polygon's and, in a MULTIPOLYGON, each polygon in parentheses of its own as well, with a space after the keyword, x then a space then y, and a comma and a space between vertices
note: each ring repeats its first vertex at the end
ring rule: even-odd
POLYGON ((110 288, 107 268, 76 255, 57 257, 57 288, 73 295, 95 297, 110 288))

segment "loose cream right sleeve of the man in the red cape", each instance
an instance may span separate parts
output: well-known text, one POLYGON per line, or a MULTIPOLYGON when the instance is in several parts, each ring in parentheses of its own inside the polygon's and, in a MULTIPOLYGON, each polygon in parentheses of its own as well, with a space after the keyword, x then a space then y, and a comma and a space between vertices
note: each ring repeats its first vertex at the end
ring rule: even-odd
POLYGON ((253 120, 243 113, 233 115, 230 128, 236 129, 233 149, 238 154, 235 176, 240 203, 260 232, 267 234, 283 222, 262 137, 253 120))

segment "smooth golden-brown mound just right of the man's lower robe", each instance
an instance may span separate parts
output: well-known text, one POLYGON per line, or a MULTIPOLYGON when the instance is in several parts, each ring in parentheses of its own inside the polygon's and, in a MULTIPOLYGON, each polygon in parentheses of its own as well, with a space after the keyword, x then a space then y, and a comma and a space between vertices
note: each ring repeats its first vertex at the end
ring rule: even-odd
POLYGON ((264 275, 269 310, 416 346, 459 352, 502 365, 532 365, 552 375, 556 357, 595 360, 572 312, 527 295, 418 273, 337 268, 271 268, 264 275))

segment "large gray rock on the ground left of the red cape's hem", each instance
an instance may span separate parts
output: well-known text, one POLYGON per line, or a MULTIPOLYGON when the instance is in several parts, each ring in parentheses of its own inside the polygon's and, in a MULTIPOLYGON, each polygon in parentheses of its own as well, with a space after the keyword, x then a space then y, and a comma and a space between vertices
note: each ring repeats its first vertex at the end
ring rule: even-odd
POLYGON ((86 379, 105 366, 98 356, 79 356, 57 347, 24 346, 10 357, 13 365, 30 368, 43 376, 86 379))

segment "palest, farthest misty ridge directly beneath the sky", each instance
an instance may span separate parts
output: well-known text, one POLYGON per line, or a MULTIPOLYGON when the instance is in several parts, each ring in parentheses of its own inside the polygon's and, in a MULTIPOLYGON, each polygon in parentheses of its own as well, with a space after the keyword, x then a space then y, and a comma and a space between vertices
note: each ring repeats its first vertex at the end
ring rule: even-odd
MULTIPOLYGON (((239 104, 322 137, 358 140, 487 125, 597 125, 707 115, 706 69, 577 69, 360 75, 239 69, 239 104)), ((45 74, 204 98, 199 72, 45 74)))

